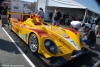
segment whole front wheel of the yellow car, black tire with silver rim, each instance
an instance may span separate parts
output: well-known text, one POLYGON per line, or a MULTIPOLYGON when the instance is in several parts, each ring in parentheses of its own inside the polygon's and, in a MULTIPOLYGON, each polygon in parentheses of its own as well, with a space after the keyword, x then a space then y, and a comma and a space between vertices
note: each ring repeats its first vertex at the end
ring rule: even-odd
POLYGON ((29 41, 28 41, 30 50, 33 53, 37 53, 38 52, 38 38, 37 35, 35 33, 30 34, 29 36, 29 41))

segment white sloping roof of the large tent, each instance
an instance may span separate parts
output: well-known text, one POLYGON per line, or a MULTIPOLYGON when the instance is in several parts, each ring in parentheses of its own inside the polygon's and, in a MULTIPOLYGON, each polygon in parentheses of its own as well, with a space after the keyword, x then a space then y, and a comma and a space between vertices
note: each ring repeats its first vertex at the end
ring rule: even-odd
POLYGON ((75 2, 74 0, 48 0, 46 6, 86 9, 85 6, 75 2))

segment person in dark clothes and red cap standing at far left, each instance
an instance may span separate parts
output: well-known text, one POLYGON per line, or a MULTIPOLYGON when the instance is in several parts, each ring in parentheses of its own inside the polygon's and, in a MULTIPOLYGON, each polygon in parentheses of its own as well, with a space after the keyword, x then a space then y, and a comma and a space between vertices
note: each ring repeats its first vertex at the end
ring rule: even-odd
POLYGON ((4 27, 4 21, 7 19, 7 3, 4 2, 2 7, 1 7, 1 18, 2 18, 2 27, 4 27))

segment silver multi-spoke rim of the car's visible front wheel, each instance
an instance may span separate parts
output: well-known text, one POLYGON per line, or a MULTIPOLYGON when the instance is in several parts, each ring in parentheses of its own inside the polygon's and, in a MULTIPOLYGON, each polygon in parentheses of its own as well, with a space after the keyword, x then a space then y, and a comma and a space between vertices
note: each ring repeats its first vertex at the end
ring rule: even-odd
POLYGON ((32 52, 37 51, 38 40, 35 34, 32 34, 29 39, 29 46, 32 52))

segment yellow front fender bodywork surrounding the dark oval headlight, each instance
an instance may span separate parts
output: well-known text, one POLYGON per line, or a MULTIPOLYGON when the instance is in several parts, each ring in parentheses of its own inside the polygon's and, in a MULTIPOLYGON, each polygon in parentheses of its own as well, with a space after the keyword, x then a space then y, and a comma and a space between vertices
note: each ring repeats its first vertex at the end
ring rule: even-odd
POLYGON ((65 55, 67 55, 67 54, 70 54, 70 55, 71 55, 72 51, 69 51, 68 49, 65 49, 64 46, 58 45, 58 44, 60 44, 60 43, 56 42, 56 41, 55 41, 54 39, 52 39, 51 37, 43 35, 43 36, 41 37, 41 44, 39 45, 39 46, 41 47, 41 48, 40 48, 40 49, 41 49, 40 51, 42 52, 42 54, 43 54, 46 58, 65 56, 65 55), (49 52, 49 51, 46 49, 46 47, 45 47, 45 45, 44 45, 44 41, 45 41, 46 39, 49 39, 49 40, 53 41, 53 42, 56 44, 57 49, 58 49, 58 53, 57 53, 57 54, 52 54, 51 52, 49 52))

